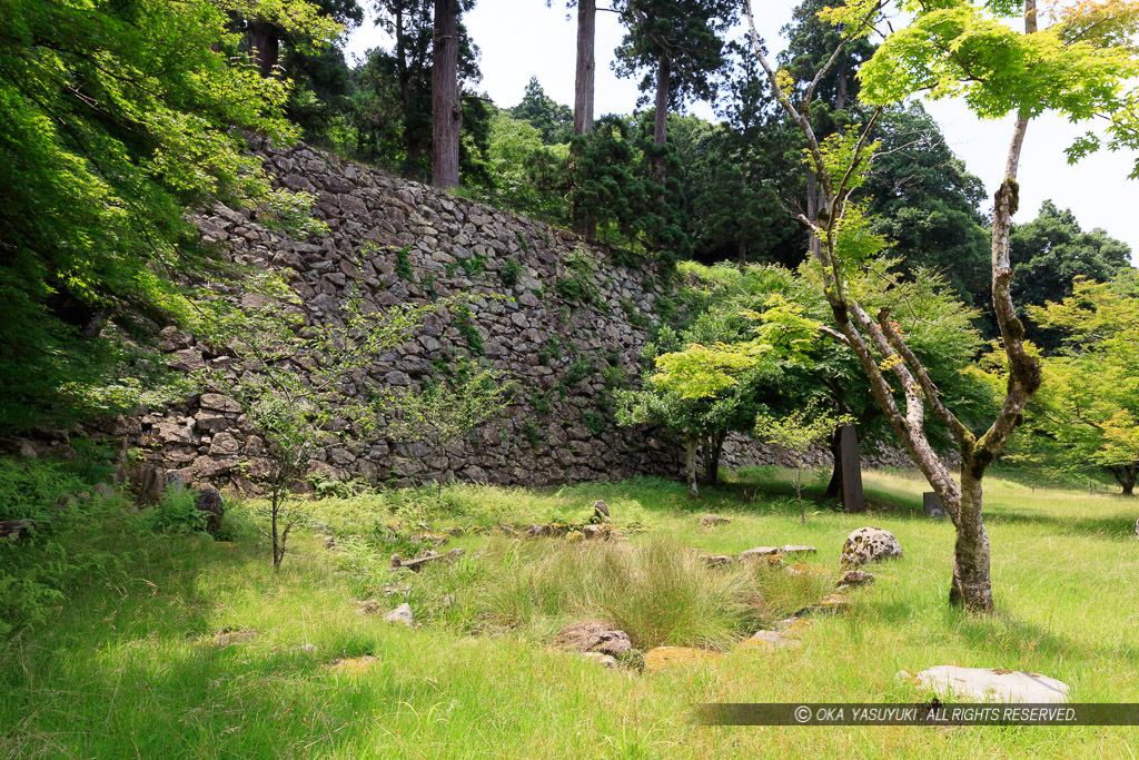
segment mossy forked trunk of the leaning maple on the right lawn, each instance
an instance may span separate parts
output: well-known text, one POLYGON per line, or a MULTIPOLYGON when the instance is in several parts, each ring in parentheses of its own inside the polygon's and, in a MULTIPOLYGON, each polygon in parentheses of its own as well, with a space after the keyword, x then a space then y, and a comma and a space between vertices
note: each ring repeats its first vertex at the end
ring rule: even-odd
MULTIPOLYGON (((865 24, 868 28, 872 26, 876 14, 877 9, 866 17, 865 24)), ((1026 32, 1031 34, 1036 28, 1035 0, 1025 0, 1024 16, 1026 32)), ((1016 173, 1029 117, 1022 113, 1016 120, 1005 165, 1005 180, 997 190, 993 209, 992 299, 1008 359, 1008 385, 1000 412, 989 430, 977 436, 945 406, 925 366, 894 329, 890 309, 880 309, 876 316, 871 316, 858 297, 847 292, 843 279, 843 263, 836 253, 836 223, 843 218, 844 205, 852 190, 850 180, 869 158, 867 144, 883 108, 879 107, 875 112, 853 145, 851 164, 845 174, 841 178, 833 177, 828 172, 826 157, 805 109, 801 112, 790 103, 779 87, 775 70, 767 60, 755 31, 751 3, 747 5, 747 21, 753 50, 768 76, 772 95, 806 139, 806 150, 811 156, 816 180, 819 183, 820 204, 817 219, 801 214, 800 220, 819 242, 818 247, 812 247, 812 254, 821 265, 826 297, 837 326, 837 329, 823 328, 823 333, 846 344, 858 357, 859 363, 867 373, 875 400, 910 458, 941 498, 953 522, 957 541, 953 550, 950 602, 970 612, 989 613, 993 608, 993 597, 989 537, 983 518, 982 480, 989 465, 1001 452, 1013 430, 1019 424, 1029 399, 1040 386, 1039 360, 1025 350, 1024 326, 1016 317, 1010 292, 1013 267, 1009 258, 1009 229, 1011 215, 1016 212, 1018 193, 1016 173), (904 397, 901 404, 886 379, 887 373, 899 381, 904 397), (929 443, 925 430, 927 404, 949 427, 960 448, 960 484, 953 480, 949 465, 929 443)), ((857 36, 854 30, 847 31, 851 32, 849 39, 857 36)), ((841 43, 838 50, 842 49, 842 44, 845 43, 841 43)), ((810 104, 814 88, 837 57, 838 50, 816 74, 813 82, 808 87, 804 103, 810 104)))

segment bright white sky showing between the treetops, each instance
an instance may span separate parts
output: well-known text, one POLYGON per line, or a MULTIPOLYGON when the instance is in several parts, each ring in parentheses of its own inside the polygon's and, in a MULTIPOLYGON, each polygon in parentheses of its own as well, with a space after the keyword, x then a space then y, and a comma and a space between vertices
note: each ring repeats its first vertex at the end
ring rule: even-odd
MULTIPOLYGON (((604 7, 605 0, 599 5, 604 7)), ((786 44, 779 30, 790 19, 796 5, 795 0, 754 5, 760 35, 775 51, 786 44)), ((574 13, 575 9, 567 11, 564 2, 556 0, 551 7, 546 7, 541 0, 478 0, 474 10, 464 17, 472 38, 482 49, 483 81, 478 89, 499 106, 513 106, 522 99, 530 77, 536 75, 550 97, 573 107, 574 13), (570 19, 567 13, 572 16, 570 19)), ((622 34, 615 14, 598 13, 597 115, 628 114, 637 104, 637 80, 617 79, 609 66, 622 34)), ((390 47, 391 40, 371 19, 366 19, 350 35, 347 51, 351 58, 351 55, 361 55, 377 46, 390 47)), ((941 124, 949 146, 965 160, 970 172, 984 180, 991 196, 1003 172, 1011 119, 981 121, 957 100, 928 103, 926 107, 941 124)), ((710 104, 693 104, 689 111, 715 121, 710 104)), ((1029 125, 1018 178, 1021 212, 1014 221, 1030 221, 1041 202, 1051 198, 1059 207, 1072 209, 1084 229, 1101 227, 1125 240, 1131 246, 1132 261, 1139 262, 1139 223, 1131 216, 1139 212, 1136 207, 1139 183, 1126 179, 1134 156, 1101 152, 1070 166, 1064 148, 1084 131, 1085 126, 1050 115, 1029 125)))

